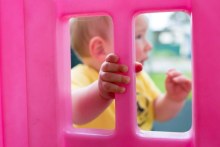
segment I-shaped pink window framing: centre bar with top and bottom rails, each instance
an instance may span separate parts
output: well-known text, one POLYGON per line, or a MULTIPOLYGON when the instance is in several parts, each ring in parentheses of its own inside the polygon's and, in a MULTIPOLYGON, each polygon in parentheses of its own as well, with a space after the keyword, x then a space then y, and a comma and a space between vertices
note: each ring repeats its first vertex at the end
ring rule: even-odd
MULTIPOLYGON (((185 10, 190 11, 188 1, 89 1, 80 3, 75 1, 62 1, 61 16, 69 15, 101 15, 108 14, 112 16, 114 23, 115 53, 120 56, 121 62, 133 68, 134 53, 132 50, 133 42, 133 22, 134 15, 140 12, 148 11, 172 11, 185 10), (75 6, 75 7, 74 7, 75 6), (82 8, 83 9, 80 9, 82 8)), ((139 132, 136 126, 135 114, 135 93, 134 93, 134 71, 129 73, 132 78, 131 84, 127 87, 127 92, 118 95, 116 98, 116 129, 114 131, 92 131, 88 130, 68 130, 65 137, 65 146, 87 146, 96 144, 98 146, 190 146, 191 136, 175 133, 149 133, 139 132), (126 106, 126 107, 125 107, 126 106), (125 123, 126 120, 126 123, 125 123), (129 120, 129 121, 128 121, 129 120), (160 136, 160 137, 159 137, 160 136), (169 137, 167 137, 169 136, 169 137)))

